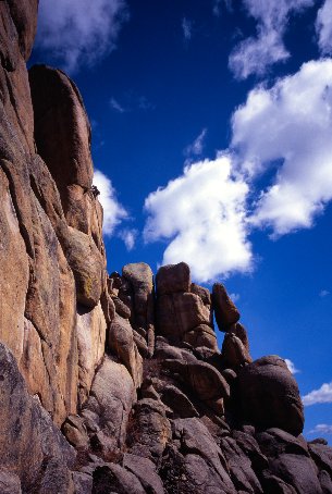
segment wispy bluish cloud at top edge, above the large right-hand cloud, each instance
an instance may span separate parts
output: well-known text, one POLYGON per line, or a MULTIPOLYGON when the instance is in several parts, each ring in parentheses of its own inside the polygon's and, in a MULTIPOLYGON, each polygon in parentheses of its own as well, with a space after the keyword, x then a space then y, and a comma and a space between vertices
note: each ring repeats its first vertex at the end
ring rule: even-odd
POLYGON ((248 15, 257 21, 257 36, 241 41, 230 55, 229 65, 236 78, 263 75, 290 53, 283 36, 290 15, 312 5, 315 0, 243 0, 248 15))

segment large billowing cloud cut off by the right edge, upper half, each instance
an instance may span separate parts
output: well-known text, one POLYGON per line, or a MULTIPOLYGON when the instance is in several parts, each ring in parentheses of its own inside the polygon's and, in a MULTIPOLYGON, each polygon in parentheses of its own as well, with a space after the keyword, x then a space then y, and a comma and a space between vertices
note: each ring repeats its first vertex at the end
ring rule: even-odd
POLYGON ((279 163, 251 217, 274 236, 311 227, 332 199, 331 82, 332 60, 308 62, 270 89, 256 87, 233 115, 238 173, 254 180, 279 163))

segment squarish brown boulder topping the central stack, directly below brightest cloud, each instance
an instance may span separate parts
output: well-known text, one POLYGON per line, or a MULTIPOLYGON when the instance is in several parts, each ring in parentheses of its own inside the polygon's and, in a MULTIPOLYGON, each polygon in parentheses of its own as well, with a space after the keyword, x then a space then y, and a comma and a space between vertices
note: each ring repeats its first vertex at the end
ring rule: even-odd
POLYGON ((190 269, 185 262, 162 265, 156 276, 157 295, 190 292, 190 269))

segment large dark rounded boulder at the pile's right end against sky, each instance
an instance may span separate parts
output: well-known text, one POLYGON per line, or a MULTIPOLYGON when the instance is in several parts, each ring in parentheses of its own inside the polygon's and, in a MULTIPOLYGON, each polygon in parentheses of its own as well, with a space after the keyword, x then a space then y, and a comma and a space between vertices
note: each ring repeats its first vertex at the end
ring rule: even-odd
POLYGON ((280 428, 298 435, 304 412, 298 386, 283 359, 262 357, 238 374, 243 418, 261 429, 280 428))

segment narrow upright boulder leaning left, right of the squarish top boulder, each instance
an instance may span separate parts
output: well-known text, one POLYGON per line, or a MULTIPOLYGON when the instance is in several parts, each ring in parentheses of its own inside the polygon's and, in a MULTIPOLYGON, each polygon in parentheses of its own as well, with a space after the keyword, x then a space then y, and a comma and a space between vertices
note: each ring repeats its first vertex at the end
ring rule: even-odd
POLYGON ((214 283, 212 288, 212 306, 220 331, 229 331, 239 319, 239 312, 222 283, 214 283))

